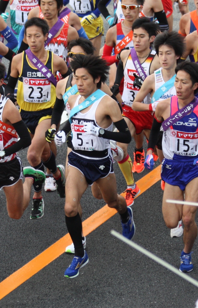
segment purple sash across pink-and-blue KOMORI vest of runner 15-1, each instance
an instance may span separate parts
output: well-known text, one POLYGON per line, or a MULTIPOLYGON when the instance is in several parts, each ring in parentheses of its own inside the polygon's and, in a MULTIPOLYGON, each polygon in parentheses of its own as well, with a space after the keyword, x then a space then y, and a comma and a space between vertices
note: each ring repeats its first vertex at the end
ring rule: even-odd
MULTIPOLYGON (((171 98, 176 99, 176 95, 171 98)), ((177 98, 178 99, 178 98, 177 98)), ((187 115, 190 111, 192 111, 198 105, 198 98, 194 98, 192 102, 175 112, 168 119, 162 122, 163 130, 166 131, 171 125, 175 124, 178 120, 182 119, 185 115, 187 115)))

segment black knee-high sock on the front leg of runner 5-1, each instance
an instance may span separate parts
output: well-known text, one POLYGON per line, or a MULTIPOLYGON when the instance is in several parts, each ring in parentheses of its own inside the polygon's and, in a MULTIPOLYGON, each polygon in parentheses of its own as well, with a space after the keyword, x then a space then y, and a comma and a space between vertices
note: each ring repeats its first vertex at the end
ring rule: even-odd
POLYGON ((82 221, 79 213, 74 217, 68 217, 65 215, 65 222, 74 244, 75 256, 83 258, 84 248, 82 243, 82 221))

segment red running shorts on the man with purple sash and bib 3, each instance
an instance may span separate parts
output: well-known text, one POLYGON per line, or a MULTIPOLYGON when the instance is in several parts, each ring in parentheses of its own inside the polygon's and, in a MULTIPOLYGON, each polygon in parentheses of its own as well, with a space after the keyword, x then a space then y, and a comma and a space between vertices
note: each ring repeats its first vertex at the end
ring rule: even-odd
POLYGON ((134 111, 131 107, 122 107, 122 116, 128 118, 135 126, 136 134, 140 134, 144 129, 151 129, 153 115, 150 111, 134 111))

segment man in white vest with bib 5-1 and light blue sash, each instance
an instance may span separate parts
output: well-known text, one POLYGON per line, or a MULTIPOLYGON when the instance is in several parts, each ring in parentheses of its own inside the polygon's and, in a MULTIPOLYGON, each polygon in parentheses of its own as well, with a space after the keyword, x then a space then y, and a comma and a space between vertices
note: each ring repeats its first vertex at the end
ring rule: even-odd
POLYGON ((80 199, 88 185, 96 182, 103 199, 121 216, 123 235, 131 239, 135 232, 132 210, 117 194, 115 174, 109 156, 109 140, 130 142, 131 136, 118 104, 100 89, 107 79, 108 67, 103 59, 76 55, 71 63, 80 95, 68 98, 72 128, 72 152, 68 155, 65 220, 75 248, 75 257, 65 271, 74 278, 88 262, 82 243, 82 221, 78 213, 80 199), (96 91, 97 90, 97 91, 96 91), (112 132, 113 122, 119 133, 112 132))

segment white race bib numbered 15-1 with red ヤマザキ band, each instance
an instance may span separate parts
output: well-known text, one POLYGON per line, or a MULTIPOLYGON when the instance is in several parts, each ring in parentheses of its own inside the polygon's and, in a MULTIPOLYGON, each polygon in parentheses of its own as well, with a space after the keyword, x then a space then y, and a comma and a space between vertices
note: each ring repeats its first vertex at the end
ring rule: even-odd
POLYGON ((198 155, 198 132, 179 132, 171 129, 170 134, 170 151, 173 151, 175 154, 182 156, 198 155))

